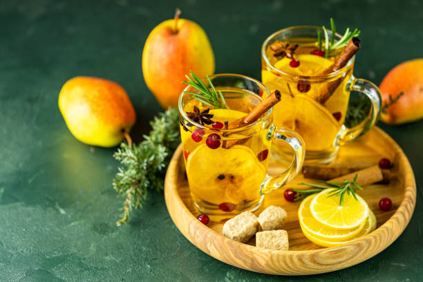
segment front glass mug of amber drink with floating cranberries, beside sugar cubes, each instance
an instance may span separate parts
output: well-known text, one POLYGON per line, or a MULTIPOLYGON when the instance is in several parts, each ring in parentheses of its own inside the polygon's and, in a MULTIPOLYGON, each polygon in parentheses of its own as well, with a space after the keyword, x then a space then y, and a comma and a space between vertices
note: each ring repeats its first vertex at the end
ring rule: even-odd
MULTIPOLYGON (((227 129, 225 122, 243 118, 269 90, 256 79, 220 74, 209 77, 221 91, 229 109, 213 109, 182 92, 178 101, 180 135, 187 179, 194 205, 203 214, 225 218, 246 210, 255 211, 263 195, 292 180, 301 170, 305 148, 301 136, 272 124, 272 109, 259 120, 241 128, 227 129), (187 113, 209 109, 214 124, 199 124, 187 113), (225 129, 226 128, 226 129, 225 129), (267 174, 270 143, 281 140, 294 156, 288 169, 276 176, 267 174)), ((203 80, 208 87, 207 80, 203 80)), ((192 86, 184 91, 196 92, 192 86)))

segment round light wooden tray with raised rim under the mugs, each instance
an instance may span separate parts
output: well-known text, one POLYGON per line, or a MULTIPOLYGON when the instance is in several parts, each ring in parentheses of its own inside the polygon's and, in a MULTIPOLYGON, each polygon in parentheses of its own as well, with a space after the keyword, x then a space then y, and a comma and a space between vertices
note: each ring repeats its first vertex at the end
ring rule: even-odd
MULTIPOLYGON (((410 220, 416 197, 413 170, 404 152, 381 129, 375 128, 359 140, 341 147, 334 165, 359 164, 364 167, 376 164, 380 158, 393 160, 395 178, 388 185, 368 185, 359 194, 363 196, 377 217, 377 229, 367 236, 338 247, 322 248, 303 236, 299 227, 298 203, 289 203, 283 191, 303 180, 298 176, 289 185, 267 194, 264 203, 255 214, 268 205, 279 205, 288 212, 285 229, 290 239, 289 251, 267 250, 255 247, 255 238, 247 244, 238 243, 221 234, 223 223, 210 222, 208 226, 196 219, 194 207, 185 177, 182 147, 178 147, 167 170, 164 197, 167 209, 175 225, 191 243, 200 250, 245 270, 267 274, 303 275, 340 270, 361 263, 382 252, 400 236, 410 220), (390 212, 381 212, 381 198, 393 200, 390 212)), ((276 162, 271 162, 274 168, 276 162)))

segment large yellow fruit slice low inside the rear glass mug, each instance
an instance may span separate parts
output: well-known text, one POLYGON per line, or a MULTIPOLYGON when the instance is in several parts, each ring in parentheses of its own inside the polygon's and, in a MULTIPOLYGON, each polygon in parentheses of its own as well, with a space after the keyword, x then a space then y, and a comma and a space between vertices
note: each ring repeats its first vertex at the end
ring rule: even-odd
POLYGON ((274 109, 274 123, 299 133, 310 151, 332 147, 340 129, 337 120, 324 106, 303 94, 292 97, 283 93, 281 102, 274 109))

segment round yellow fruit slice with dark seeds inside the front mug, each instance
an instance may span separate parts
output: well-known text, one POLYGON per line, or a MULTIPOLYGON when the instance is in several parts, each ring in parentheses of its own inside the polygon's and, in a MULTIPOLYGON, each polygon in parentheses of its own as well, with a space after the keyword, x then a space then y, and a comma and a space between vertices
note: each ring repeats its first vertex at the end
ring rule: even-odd
POLYGON ((191 193, 215 205, 259 198, 265 175, 265 167, 254 151, 243 145, 210 149, 201 144, 187 158, 191 193))

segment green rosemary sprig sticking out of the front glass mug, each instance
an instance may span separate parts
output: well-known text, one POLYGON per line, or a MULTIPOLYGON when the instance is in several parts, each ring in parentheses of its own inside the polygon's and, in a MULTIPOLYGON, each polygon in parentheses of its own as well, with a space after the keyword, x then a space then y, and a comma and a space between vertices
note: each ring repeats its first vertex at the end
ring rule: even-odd
POLYGON ((225 98, 223 97, 222 92, 216 91, 214 88, 212 81, 210 80, 209 76, 206 76, 207 82, 209 82, 209 87, 207 87, 201 79, 198 78, 192 71, 190 72, 191 77, 185 75, 187 77, 187 82, 182 82, 188 84, 189 86, 196 88, 199 93, 192 92, 192 91, 183 91, 184 93, 188 93, 194 96, 194 98, 203 104, 212 106, 216 109, 229 109, 225 102, 225 98))

